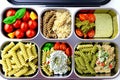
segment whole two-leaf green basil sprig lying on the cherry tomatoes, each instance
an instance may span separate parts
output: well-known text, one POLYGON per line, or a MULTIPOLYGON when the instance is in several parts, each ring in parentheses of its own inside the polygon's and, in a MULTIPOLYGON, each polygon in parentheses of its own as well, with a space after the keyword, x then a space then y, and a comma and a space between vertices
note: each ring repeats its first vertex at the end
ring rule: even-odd
POLYGON ((14 16, 9 16, 3 20, 3 23, 5 24, 12 24, 16 21, 16 19, 21 19, 26 12, 25 8, 17 10, 14 16))

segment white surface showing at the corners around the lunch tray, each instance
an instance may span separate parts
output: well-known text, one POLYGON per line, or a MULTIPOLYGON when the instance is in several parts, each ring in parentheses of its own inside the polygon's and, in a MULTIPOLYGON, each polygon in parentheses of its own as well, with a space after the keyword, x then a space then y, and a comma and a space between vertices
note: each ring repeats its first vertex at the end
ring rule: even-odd
MULTIPOLYGON (((16 6, 16 5, 12 5, 8 3, 7 0, 0 0, 0 15, 2 14, 2 11, 6 7, 11 7, 11 6, 16 6)), ((23 5, 19 5, 19 6, 23 6, 23 5)), ((120 0, 111 0, 108 4, 101 6, 101 8, 113 8, 120 14, 120 0)), ((1 16, 0 16, 0 22, 1 22, 1 16)), ((2 27, 1 24, 0 24, 0 27, 2 27)), ((0 32, 0 36, 1 36, 1 32, 0 32)), ((4 40, 5 38, 0 39, 0 45, 2 42, 4 42, 4 40)), ((5 80, 5 79, 0 76, 0 80, 5 80)), ((120 75, 114 79, 108 79, 108 80, 120 80, 120 75)))

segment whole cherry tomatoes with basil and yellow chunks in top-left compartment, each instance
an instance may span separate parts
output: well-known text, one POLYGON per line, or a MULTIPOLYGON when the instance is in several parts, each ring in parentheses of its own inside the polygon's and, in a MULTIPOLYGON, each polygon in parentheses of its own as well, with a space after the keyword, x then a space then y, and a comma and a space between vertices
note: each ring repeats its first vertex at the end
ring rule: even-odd
POLYGON ((38 32, 38 16, 32 9, 7 9, 2 25, 3 34, 8 38, 33 38, 38 32))

